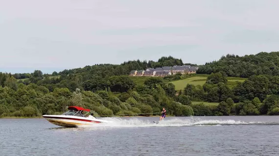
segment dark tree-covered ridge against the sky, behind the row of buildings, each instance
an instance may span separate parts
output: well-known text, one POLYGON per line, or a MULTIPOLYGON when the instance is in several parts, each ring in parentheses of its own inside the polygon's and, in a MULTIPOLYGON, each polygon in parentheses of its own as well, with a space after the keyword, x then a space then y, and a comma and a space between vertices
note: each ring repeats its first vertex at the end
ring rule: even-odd
POLYGON ((83 68, 74 68, 74 69, 65 69, 62 72, 57 73, 54 71, 50 75, 43 75, 40 70, 36 70, 34 73, 16 73, 12 76, 16 79, 26 79, 31 77, 36 77, 42 75, 42 77, 54 77, 54 76, 62 76, 62 75, 82 75, 84 79, 92 79, 94 76, 99 76, 102 78, 109 78, 111 76, 120 76, 120 75, 128 75, 132 70, 145 70, 147 68, 157 68, 163 66, 174 66, 174 65, 191 65, 197 66, 197 64, 184 63, 182 59, 176 59, 171 56, 162 57, 158 59, 158 61, 153 60, 129 60, 125 61, 121 64, 95 64, 95 65, 87 65, 83 68), (35 76, 34 76, 35 74, 35 76), (90 76, 89 76, 90 75, 90 76))

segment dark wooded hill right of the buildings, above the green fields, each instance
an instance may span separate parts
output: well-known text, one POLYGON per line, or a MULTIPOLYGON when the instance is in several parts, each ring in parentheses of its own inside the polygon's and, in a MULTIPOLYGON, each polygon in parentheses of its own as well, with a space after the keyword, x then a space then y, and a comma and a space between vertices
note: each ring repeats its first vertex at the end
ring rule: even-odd
POLYGON ((252 75, 279 76, 279 52, 261 52, 239 57, 227 55, 218 61, 200 66, 198 74, 225 72, 229 77, 249 78, 252 75))

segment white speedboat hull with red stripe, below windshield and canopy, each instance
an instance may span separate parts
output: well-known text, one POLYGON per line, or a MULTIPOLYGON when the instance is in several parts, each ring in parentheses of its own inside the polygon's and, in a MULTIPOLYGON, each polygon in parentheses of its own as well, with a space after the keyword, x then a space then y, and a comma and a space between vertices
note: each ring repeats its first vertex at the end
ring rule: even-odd
POLYGON ((90 126, 98 123, 110 123, 112 121, 89 118, 89 117, 77 117, 77 116, 65 116, 65 115, 44 115, 44 118, 50 123, 62 127, 81 127, 90 126))

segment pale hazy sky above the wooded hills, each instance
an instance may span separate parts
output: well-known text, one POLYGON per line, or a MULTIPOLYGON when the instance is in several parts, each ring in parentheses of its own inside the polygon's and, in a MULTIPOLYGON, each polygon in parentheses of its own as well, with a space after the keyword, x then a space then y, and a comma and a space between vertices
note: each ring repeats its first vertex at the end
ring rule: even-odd
POLYGON ((0 72, 279 51, 279 0, 0 0, 0 72))

